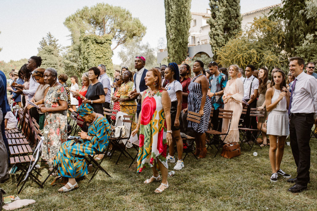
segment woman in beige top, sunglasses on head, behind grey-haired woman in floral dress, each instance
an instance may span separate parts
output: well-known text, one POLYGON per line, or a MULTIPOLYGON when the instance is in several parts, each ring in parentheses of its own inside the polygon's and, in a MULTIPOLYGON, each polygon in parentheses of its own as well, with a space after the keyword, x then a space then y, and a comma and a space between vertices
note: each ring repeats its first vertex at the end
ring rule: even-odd
MULTIPOLYGON (((37 90, 34 96, 30 99, 30 102, 33 102, 36 105, 44 104, 44 97, 46 96, 46 93, 49 90, 49 84, 46 84, 44 82, 44 77, 43 77, 44 72, 45 72, 45 69, 37 68, 32 74, 32 77, 36 80, 37 83, 40 84, 37 87, 37 90)), ((39 113, 38 110, 30 104, 28 105, 27 108, 30 112, 30 116, 36 119, 37 124, 39 124, 40 130, 43 130, 45 115, 41 112, 39 113)))

